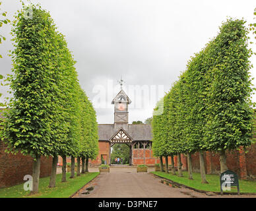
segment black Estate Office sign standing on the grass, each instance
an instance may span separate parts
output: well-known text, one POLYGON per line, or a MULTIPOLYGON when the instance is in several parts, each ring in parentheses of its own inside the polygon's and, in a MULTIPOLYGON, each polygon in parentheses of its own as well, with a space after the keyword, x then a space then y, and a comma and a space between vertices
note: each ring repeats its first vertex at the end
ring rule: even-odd
POLYGON ((224 171, 220 174, 220 192, 231 191, 231 187, 236 186, 238 188, 238 195, 240 195, 238 175, 230 170, 224 171))

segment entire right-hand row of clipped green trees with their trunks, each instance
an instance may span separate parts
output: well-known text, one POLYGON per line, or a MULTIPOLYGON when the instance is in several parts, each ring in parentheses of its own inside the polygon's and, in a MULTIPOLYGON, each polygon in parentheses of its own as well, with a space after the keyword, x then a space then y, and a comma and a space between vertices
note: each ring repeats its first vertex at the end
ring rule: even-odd
POLYGON ((202 183, 205 177, 203 152, 218 152, 220 171, 226 166, 226 151, 250 146, 253 131, 253 103, 248 47, 244 20, 228 19, 220 32, 187 64, 172 88, 158 102, 152 120, 155 156, 177 156, 178 175, 181 154, 187 155, 189 179, 193 179, 191 154, 199 152, 202 183))

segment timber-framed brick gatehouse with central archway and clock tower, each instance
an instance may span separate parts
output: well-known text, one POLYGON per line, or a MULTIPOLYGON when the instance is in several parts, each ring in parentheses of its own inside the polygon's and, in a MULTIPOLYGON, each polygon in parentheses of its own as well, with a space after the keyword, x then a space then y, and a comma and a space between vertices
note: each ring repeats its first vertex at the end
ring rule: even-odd
POLYGON ((91 166, 102 164, 111 165, 111 148, 114 144, 126 144, 130 149, 129 165, 156 164, 152 155, 152 133, 148 124, 133 125, 128 123, 129 104, 131 100, 123 89, 112 100, 114 105, 114 123, 99 124, 99 154, 96 160, 90 162, 91 166))

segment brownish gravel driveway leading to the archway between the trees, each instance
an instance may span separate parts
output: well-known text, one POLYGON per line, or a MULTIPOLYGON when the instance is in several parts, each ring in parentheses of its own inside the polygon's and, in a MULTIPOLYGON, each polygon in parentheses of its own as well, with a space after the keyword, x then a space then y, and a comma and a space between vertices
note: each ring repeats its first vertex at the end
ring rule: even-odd
MULTIPOLYGON (((90 171, 97 171, 96 168, 90 171)), ((110 173, 100 173, 98 177, 80 190, 75 198, 206 198, 206 197, 253 197, 234 195, 208 196, 185 188, 173 188, 160 183, 160 179, 150 173, 137 173, 136 167, 111 167, 110 173), (92 191, 86 188, 93 187, 92 191), (89 194, 85 194, 89 193, 89 194)))

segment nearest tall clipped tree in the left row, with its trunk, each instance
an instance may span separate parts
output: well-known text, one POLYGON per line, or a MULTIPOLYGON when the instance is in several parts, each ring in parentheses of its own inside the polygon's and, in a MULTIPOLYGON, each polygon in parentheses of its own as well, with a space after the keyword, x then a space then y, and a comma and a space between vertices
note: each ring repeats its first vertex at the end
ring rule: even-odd
POLYGON ((51 77, 55 72, 55 26, 49 13, 40 7, 32 8, 32 18, 24 18, 23 8, 13 23, 13 75, 8 78, 13 99, 7 107, 1 136, 9 152, 20 151, 34 158, 32 193, 38 193, 40 157, 53 155, 53 135, 58 133, 52 125, 59 105, 52 100, 59 90, 51 77))

